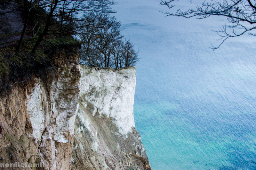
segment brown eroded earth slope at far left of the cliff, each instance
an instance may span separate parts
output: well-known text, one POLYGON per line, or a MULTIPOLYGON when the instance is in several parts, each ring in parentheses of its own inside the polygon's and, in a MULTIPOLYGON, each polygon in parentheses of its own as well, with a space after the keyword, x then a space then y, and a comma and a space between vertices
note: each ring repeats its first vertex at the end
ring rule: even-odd
POLYGON ((16 86, 12 89, 9 101, 0 103, 0 163, 35 162, 39 158, 38 145, 29 137, 33 130, 25 100, 24 89, 16 86))

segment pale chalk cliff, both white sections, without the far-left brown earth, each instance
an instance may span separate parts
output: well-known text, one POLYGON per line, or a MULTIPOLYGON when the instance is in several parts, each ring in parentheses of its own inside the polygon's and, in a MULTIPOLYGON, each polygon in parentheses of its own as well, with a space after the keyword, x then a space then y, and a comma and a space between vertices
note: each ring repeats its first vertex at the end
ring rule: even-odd
POLYGON ((137 167, 137 161, 148 169, 146 151, 134 127, 135 67, 64 65, 58 71, 57 81, 47 87, 35 78, 26 102, 33 129, 28 135, 35 139, 46 169, 83 169, 79 166, 83 164, 89 169, 122 170, 137 167))

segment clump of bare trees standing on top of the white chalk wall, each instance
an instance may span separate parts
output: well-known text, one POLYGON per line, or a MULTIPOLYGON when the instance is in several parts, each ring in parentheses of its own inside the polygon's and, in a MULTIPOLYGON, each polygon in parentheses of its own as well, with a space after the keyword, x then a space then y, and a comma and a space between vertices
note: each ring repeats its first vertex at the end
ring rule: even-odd
MULTIPOLYGON (((84 15, 91 22, 88 26, 77 29, 77 36, 82 40, 80 63, 92 67, 122 68, 134 66, 139 60, 138 52, 130 40, 123 41, 120 34, 120 22, 115 17, 103 16, 98 13, 84 15)), ((83 22, 79 22, 84 25, 83 22)))

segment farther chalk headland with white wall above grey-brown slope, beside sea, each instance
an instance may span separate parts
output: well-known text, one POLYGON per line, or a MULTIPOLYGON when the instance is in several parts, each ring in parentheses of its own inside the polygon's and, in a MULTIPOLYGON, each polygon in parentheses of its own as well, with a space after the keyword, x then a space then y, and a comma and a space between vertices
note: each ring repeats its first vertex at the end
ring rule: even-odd
POLYGON ((72 168, 150 169, 134 127, 136 69, 81 66, 72 168))

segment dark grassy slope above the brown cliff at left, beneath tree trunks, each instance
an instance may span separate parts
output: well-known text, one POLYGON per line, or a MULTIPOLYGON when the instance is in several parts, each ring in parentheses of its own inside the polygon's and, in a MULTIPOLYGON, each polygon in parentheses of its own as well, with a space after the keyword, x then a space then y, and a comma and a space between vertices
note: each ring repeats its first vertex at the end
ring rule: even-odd
POLYGON ((53 48, 61 49, 62 46, 79 44, 71 36, 48 36, 36 53, 31 54, 37 38, 23 41, 20 52, 15 51, 17 43, 0 46, 0 101, 9 93, 14 83, 26 83, 32 74, 41 77, 51 72, 49 68, 54 67, 50 62, 53 48))

